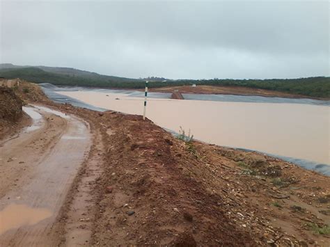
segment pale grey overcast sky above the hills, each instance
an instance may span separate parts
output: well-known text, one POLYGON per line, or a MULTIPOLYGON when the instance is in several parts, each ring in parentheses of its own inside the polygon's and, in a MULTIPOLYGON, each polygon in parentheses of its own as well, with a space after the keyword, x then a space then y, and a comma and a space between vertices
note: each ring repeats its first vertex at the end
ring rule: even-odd
POLYGON ((1 63, 133 78, 329 76, 327 1, 0 1, 1 63))

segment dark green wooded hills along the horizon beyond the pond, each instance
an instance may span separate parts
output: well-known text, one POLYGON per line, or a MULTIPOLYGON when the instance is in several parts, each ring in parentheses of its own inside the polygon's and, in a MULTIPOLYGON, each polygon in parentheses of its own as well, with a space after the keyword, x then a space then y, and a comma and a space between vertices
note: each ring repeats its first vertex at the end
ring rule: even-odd
MULTIPOLYGON (((19 67, 0 70, 0 77, 21 78, 36 83, 52 83, 57 86, 86 86, 100 88, 144 88, 143 79, 111 77, 70 68, 19 67), (49 69, 52 68, 52 69, 49 69), (47 71, 46 71, 47 70, 47 71)), ((150 88, 186 86, 191 84, 210 86, 240 86, 304 95, 308 97, 330 97, 330 77, 308 77, 299 79, 209 79, 150 81, 150 88)))

